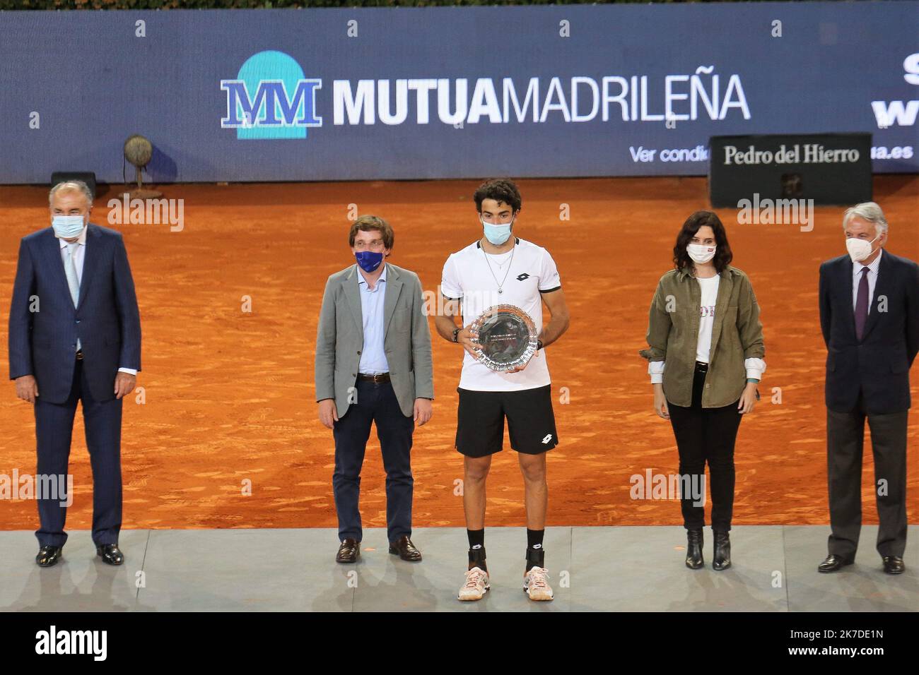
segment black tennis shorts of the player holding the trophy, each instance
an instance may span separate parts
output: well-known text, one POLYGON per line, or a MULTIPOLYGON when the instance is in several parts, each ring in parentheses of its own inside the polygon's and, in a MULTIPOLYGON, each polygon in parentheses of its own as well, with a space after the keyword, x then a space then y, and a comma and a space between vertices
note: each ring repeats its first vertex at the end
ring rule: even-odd
POLYGON ((558 444, 551 385, 518 391, 457 391, 456 448, 462 455, 483 457, 501 452, 505 417, 511 447, 518 453, 539 455, 558 444))

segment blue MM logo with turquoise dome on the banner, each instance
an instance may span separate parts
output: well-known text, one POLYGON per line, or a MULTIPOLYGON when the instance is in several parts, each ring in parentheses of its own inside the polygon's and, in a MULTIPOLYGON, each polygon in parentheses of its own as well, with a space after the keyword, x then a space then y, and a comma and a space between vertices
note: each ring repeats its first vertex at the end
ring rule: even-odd
POLYGON ((300 64, 282 51, 259 51, 235 80, 221 80, 226 117, 221 129, 236 129, 237 139, 305 139, 307 127, 322 127, 316 117, 320 79, 303 76, 300 64))

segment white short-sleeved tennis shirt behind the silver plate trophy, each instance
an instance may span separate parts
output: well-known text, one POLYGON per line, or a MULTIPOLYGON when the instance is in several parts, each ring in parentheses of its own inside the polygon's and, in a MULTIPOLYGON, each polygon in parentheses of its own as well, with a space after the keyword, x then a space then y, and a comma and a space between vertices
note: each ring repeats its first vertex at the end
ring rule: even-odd
MULTIPOLYGON (((508 253, 489 255, 482 250, 480 242, 450 253, 440 281, 440 292, 447 298, 462 298, 463 326, 469 326, 485 309, 507 304, 526 311, 536 324, 537 332, 542 331, 541 294, 561 287, 559 271, 549 252, 519 237, 508 253), (498 293, 499 285, 502 293, 498 293)), ((544 349, 534 354, 527 367, 517 373, 494 371, 463 350, 459 388, 515 391, 548 384, 549 366, 544 349)))

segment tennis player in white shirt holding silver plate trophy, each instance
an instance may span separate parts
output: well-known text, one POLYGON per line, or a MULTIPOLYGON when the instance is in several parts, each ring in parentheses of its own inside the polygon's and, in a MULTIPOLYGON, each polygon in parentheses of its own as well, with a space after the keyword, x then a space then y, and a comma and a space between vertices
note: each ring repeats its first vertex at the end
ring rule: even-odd
POLYGON ((469 568, 459 600, 480 600, 490 588, 485 563, 485 478, 501 452, 505 417, 523 473, 527 554, 523 588, 530 600, 551 600, 542 538, 548 487, 546 452, 558 443, 549 368, 543 347, 568 329, 568 308, 549 252, 512 236, 520 193, 490 180, 475 195, 484 236, 452 253, 440 290, 447 299, 437 332, 466 350, 459 377, 456 448, 464 456, 463 509, 469 568), (551 320, 542 325, 542 303, 551 320), (459 316, 461 325, 454 318, 459 316))

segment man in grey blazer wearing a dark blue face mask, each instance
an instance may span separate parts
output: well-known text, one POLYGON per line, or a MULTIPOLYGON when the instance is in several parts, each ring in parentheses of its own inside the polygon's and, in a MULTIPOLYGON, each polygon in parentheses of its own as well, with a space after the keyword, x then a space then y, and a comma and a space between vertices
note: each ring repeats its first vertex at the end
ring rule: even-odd
POLYGON ((392 242, 384 219, 355 220, 348 244, 357 264, 329 276, 319 316, 316 401, 320 421, 335 438, 332 487, 340 541, 335 560, 342 563, 360 555, 357 501, 371 422, 386 469, 390 553, 421 560, 411 539, 411 449, 414 423, 431 419, 431 334, 418 276, 384 262, 392 242))

